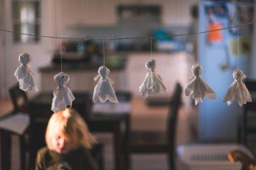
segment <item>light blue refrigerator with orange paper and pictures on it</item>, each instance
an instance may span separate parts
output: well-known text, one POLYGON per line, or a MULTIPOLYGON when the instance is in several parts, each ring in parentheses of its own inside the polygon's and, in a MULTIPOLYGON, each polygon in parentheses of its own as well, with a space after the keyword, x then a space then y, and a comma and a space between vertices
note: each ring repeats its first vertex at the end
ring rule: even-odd
MULTIPOLYGON (((253 21, 253 3, 201 1, 198 32, 218 30, 253 21)), ((252 53, 253 24, 218 32, 199 34, 199 64, 201 77, 216 92, 217 99, 199 103, 199 139, 237 139, 239 117, 243 107, 236 101, 223 103, 228 87, 234 81, 232 72, 241 69, 249 73, 252 53)))

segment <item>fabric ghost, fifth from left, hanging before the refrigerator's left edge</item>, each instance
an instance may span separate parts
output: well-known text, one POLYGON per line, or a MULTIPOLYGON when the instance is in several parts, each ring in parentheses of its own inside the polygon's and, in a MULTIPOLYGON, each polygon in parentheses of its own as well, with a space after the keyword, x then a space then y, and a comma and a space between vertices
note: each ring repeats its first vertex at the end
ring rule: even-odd
POLYGON ((201 73, 203 71, 201 65, 193 65, 191 71, 194 78, 189 82, 189 85, 187 85, 185 95, 190 95, 193 99, 195 99, 195 105, 197 105, 199 102, 203 102, 204 97, 216 99, 216 93, 201 78, 201 73))

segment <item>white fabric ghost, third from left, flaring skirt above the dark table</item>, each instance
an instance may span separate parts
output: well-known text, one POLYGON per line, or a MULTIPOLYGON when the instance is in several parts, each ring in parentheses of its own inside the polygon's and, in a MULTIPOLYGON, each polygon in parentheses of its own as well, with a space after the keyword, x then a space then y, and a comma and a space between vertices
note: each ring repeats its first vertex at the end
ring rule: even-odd
POLYGON ((98 101, 104 103, 107 99, 110 102, 119 103, 115 90, 112 87, 114 81, 108 77, 109 73, 110 71, 107 67, 101 66, 98 69, 98 75, 94 77, 94 81, 98 80, 98 78, 100 78, 100 80, 94 87, 94 95, 92 97, 92 101, 94 101, 94 103, 97 103, 98 101))

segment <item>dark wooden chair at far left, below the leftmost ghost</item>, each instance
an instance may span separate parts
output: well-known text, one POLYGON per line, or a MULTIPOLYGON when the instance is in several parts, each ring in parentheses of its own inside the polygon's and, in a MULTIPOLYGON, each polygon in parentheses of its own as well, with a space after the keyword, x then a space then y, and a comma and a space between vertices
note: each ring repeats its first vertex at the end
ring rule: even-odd
MULTIPOLYGON (((13 104, 13 114, 18 112, 24 112, 28 114, 30 118, 30 108, 28 106, 28 97, 26 92, 20 89, 19 83, 16 83, 12 87, 9 88, 9 95, 11 97, 11 102, 13 104)), ((34 151, 34 144, 32 142, 32 129, 31 129, 31 118, 30 118, 30 126, 28 126, 27 130, 24 134, 17 134, 20 142, 20 169, 31 169, 34 166, 34 161, 36 157, 36 153, 34 151), (29 157, 26 157, 26 153, 28 153, 29 157), (28 167, 26 168, 26 159, 28 159, 28 167)))

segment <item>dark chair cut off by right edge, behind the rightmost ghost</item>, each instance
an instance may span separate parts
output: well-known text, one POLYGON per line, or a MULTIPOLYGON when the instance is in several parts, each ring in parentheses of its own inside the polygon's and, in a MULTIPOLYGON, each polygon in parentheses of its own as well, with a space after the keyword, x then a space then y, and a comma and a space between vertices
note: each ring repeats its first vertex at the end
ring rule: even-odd
POLYGON ((246 79, 245 85, 251 93, 252 102, 243 105, 243 114, 241 122, 238 122, 238 142, 248 145, 248 137, 256 136, 256 126, 253 121, 256 120, 256 80, 246 79))

